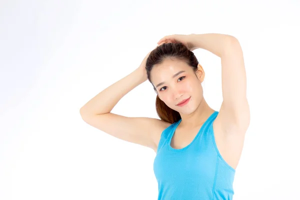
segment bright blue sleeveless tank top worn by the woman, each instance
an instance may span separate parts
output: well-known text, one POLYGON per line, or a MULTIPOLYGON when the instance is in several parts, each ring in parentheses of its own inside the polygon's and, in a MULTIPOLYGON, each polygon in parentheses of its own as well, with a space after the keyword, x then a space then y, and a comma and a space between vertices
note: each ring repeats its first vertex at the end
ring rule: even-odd
POLYGON ((180 120, 161 133, 153 162, 158 200, 232 199, 235 169, 220 155, 213 135, 214 111, 185 147, 172 148, 171 138, 180 120))

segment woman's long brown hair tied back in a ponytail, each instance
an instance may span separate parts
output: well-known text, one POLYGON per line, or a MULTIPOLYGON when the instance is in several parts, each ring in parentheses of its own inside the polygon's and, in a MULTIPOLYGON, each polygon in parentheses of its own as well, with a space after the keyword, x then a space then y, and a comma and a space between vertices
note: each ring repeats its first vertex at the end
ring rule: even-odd
MULTIPOLYGON (((165 58, 176 58, 186 62, 190 67, 192 67, 193 71, 197 71, 198 60, 194 53, 187 49, 187 47, 182 43, 163 43, 153 49, 147 60, 146 60, 146 71, 147 78, 151 82, 150 72, 155 64, 160 64, 163 62, 165 58)), ((151 82, 153 85, 153 83, 151 82)), ((153 88, 156 93, 157 90, 153 85, 153 88)), ((160 100, 159 96, 156 95, 156 112, 159 118, 163 121, 167 121, 169 123, 174 123, 181 119, 179 112, 168 107, 162 100, 160 100)))

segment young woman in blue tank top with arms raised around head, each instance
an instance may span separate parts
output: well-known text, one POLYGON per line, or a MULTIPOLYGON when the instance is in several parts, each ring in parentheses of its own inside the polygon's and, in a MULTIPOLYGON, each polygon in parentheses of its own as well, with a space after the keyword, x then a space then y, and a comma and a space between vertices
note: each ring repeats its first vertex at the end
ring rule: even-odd
POLYGON ((232 199, 235 169, 250 121, 246 74, 238 40, 226 34, 161 38, 140 66, 81 109, 82 119, 117 138, 152 148, 158 199, 232 199), (219 111, 203 97, 204 70, 192 50, 221 58, 219 111), (145 80, 153 85, 160 119, 110 113, 145 80))

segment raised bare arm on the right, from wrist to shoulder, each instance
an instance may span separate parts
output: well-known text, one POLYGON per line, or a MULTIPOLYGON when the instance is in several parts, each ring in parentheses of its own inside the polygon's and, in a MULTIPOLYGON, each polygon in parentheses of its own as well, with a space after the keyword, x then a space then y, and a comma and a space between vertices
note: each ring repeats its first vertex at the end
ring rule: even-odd
POLYGON ((219 110, 223 129, 245 133, 250 122, 246 72, 238 40, 226 34, 192 34, 192 44, 221 58, 223 102, 219 110))

